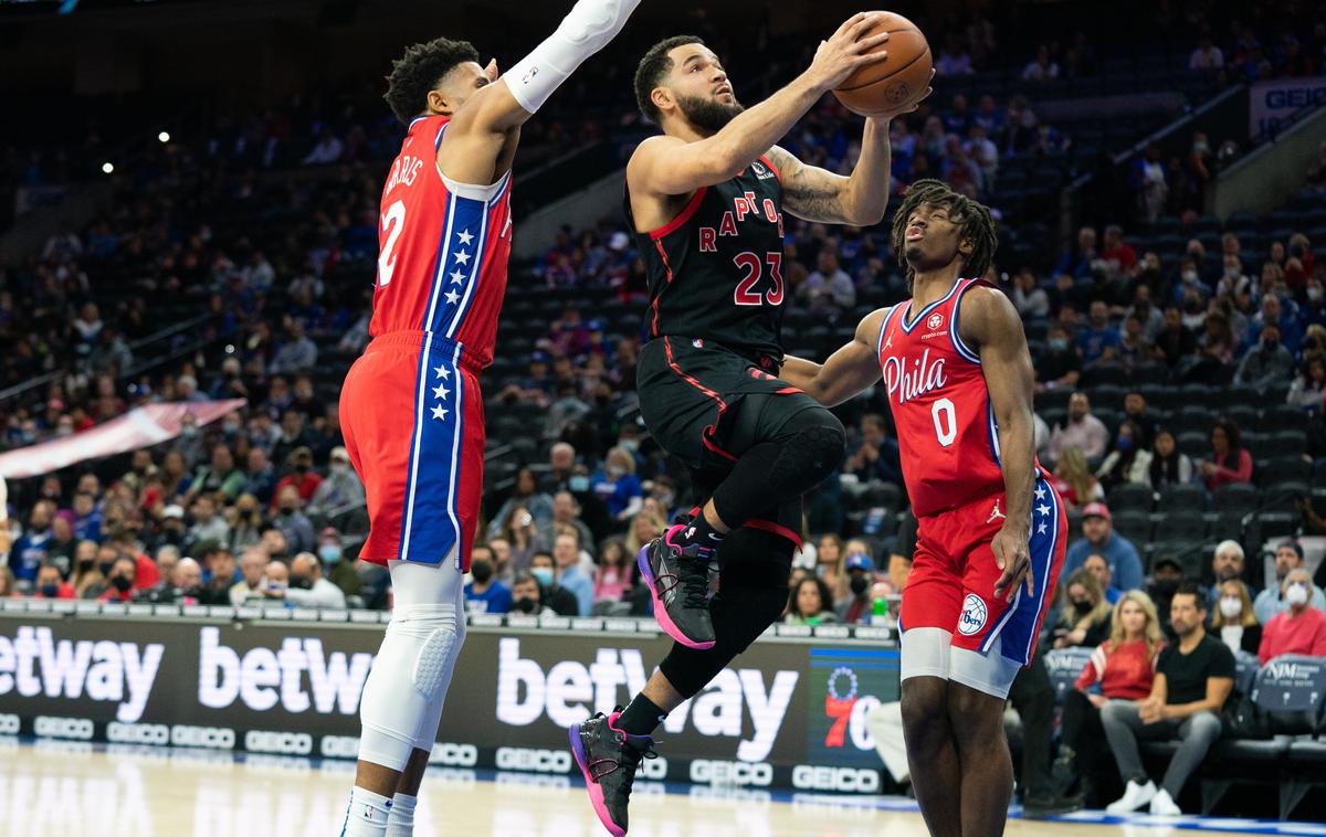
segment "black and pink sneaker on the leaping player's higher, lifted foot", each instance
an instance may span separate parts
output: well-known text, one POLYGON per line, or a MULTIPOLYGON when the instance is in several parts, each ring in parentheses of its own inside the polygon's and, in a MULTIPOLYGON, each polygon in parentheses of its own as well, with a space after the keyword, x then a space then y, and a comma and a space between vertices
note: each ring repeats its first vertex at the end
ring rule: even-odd
POLYGON ((697 543, 675 543, 687 526, 678 523, 651 540, 635 563, 650 587, 659 626, 682 645, 704 650, 713 648, 715 640, 708 600, 713 550, 697 543))

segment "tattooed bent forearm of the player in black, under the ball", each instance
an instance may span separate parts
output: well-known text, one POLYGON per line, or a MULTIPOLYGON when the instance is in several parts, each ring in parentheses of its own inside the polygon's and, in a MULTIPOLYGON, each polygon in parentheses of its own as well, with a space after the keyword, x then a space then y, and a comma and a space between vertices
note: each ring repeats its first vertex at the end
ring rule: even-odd
POLYGON ((888 122, 910 113, 930 95, 930 89, 896 114, 870 117, 861 136, 861 158, 845 177, 817 166, 806 166, 789 151, 774 146, 769 162, 782 177, 782 205, 792 215, 822 224, 873 226, 888 205, 888 122))

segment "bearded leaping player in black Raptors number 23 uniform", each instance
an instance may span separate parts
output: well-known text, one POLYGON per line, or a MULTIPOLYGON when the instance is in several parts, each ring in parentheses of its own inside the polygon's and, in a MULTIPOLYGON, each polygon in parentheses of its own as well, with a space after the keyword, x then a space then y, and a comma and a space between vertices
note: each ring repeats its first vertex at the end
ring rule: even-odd
POLYGON ((887 50, 869 54, 887 34, 858 40, 875 20, 843 23, 805 73, 749 110, 696 37, 656 44, 635 75, 640 110, 663 128, 626 168, 626 215, 652 298, 636 375, 640 412, 654 438, 691 468, 703 505, 638 558, 671 652, 623 711, 570 730, 590 800, 618 836, 650 734, 782 615, 801 495, 843 458, 842 424, 777 377, 782 212, 878 224, 888 200, 888 118, 866 121, 850 177, 805 166, 774 143, 853 70, 887 61, 887 50), (711 564, 719 592, 708 600, 711 564))

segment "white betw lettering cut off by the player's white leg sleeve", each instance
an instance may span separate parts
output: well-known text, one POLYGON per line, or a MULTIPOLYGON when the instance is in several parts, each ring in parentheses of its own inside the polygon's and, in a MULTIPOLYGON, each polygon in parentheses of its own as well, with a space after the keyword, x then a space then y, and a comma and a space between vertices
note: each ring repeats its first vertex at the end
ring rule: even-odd
POLYGON ((277 703, 294 714, 309 707, 320 715, 358 711, 373 654, 354 654, 347 661, 343 652, 324 654, 322 640, 316 637, 286 637, 278 652, 255 648, 241 657, 221 645, 220 636, 219 628, 199 632, 198 701, 203 706, 225 709, 241 701, 257 713, 277 703), (305 673, 312 699, 304 687, 305 673))

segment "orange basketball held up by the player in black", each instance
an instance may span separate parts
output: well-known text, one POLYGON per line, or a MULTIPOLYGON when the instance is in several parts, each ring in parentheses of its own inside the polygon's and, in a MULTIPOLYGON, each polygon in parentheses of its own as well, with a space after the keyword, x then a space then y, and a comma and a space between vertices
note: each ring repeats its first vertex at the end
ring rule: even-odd
POLYGON ((902 15, 882 15, 883 20, 861 37, 887 32, 888 40, 874 52, 886 50, 888 58, 861 68, 833 91, 843 107, 862 117, 894 113, 930 86, 932 60, 926 36, 902 15))

